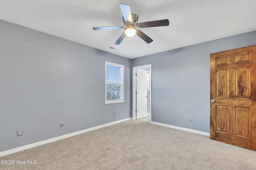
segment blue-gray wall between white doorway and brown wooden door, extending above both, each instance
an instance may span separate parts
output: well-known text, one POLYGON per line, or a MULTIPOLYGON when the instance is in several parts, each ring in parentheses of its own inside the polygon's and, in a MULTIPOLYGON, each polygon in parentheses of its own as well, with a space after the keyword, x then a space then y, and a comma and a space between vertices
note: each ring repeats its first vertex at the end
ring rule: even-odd
POLYGON ((253 31, 132 59, 152 64, 152 121, 209 132, 210 53, 255 44, 253 31))

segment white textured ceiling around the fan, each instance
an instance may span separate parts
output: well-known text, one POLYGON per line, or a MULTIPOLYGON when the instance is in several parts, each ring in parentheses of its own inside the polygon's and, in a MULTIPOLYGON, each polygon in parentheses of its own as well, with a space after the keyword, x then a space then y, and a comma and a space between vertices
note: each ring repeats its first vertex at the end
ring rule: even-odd
POLYGON ((0 0, 0 19, 133 59, 255 31, 255 9, 256 0, 0 0), (92 27, 124 26, 119 3, 129 4, 139 23, 170 25, 141 28, 150 44, 134 36, 114 45, 123 29, 92 27))

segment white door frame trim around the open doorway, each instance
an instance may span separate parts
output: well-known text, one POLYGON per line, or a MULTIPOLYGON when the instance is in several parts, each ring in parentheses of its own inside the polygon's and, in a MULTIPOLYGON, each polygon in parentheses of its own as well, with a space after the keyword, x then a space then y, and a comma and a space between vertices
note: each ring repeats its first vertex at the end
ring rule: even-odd
POLYGON ((149 96, 149 111, 150 111, 150 123, 152 121, 152 64, 142 65, 142 66, 136 66, 132 67, 132 120, 136 120, 136 70, 137 69, 143 69, 149 67, 149 89, 150 89, 150 96, 149 96))

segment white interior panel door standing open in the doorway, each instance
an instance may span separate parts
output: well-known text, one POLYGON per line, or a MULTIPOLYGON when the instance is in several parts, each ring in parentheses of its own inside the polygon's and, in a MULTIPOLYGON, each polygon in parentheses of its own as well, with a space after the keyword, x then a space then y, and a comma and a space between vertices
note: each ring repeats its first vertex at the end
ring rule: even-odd
POLYGON ((147 83, 148 72, 145 70, 137 70, 137 99, 136 99, 136 119, 147 117, 147 83))

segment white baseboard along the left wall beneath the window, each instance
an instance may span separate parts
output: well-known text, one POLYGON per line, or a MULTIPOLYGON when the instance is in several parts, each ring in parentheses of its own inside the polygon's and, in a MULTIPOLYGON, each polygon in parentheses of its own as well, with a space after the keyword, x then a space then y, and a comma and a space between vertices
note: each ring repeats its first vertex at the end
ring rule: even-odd
POLYGON ((0 152, 0 157, 8 155, 8 154, 15 153, 15 152, 19 152, 19 151, 22 151, 22 150, 30 149, 30 148, 33 148, 33 147, 37 147, 37 146, 40 146, 40 145, 44 145, 46 143, 51 143, 51 142, 54 142, 54 141, 58 141, 58 140, 61 140, 61 139, 65 139, 65 138, 68 138, 68 137, 79 135, 81 133, 86 133, 86 132, 89 132, 89 131, 100 129, 102 127, 114 125, 116 123, 121 123, 123 121, 128 121, 130 119, 132 119, 132 118, 127 118, 127 119, 122 119, 122 120, 119 120, 119 121, 114 121, 114 122, 111 122, 111 123, 106 123, 104 125, 99 125, 99 126, 96 126, 96 127, 91 127, 89 129, 84 129, 82 131, 77 131, 77 132, 74 132, 74 133, 69 133, 67 135, 62 135, 62 136, 55 137, 55 138, 52 138, 52 139, 47 139, 45 141, 40 141, 40 142, 37 142, 37 143, 32 143, 32 144, 29 144, 29 145, 25 145, 25 146, 22 146, 22 147, 10 149, 10 150, 5 150, 5 151, 0 152))

